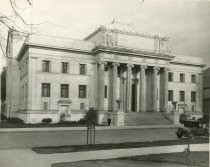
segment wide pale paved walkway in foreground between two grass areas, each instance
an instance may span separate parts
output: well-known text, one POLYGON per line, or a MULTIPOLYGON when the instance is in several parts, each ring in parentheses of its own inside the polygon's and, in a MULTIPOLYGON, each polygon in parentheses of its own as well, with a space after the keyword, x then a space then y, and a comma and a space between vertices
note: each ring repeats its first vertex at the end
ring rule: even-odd
MULTIPOLYGON (((135 155, 182 152, 187 145, 158 146, 147 148, 112 149, 60 154, 36 154, 30 149, 0 150, 2 167, 50 167, 54 163, 92 159, 110 159, 135 155)), ((209 144, 192 144, 191 151, 209 151, 209 144)))

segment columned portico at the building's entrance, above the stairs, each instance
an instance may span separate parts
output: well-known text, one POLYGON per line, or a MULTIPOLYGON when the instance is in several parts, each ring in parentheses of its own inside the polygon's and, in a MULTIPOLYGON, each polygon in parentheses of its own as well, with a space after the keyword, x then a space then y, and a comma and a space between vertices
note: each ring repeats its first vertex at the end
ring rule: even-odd
POLYGON ((98 61, 96 65, 98 110, 125 113, 167 112, 167 67, 105 60, 98 61), (104 106, 105 80, 108 83, 107 107, 104 106))

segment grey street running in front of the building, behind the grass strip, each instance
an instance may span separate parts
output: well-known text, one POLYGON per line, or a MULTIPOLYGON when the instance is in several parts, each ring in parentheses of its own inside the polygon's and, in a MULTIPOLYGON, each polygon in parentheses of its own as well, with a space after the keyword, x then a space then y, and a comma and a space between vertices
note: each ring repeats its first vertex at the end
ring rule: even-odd
MULTIPOLYGON (((174 128, 97 130, 96 144, 174 140, 177 139, 175 130, 174 128)), ((85 130, 0 133, 0 149, 84 145, 86 140, 85 130)))

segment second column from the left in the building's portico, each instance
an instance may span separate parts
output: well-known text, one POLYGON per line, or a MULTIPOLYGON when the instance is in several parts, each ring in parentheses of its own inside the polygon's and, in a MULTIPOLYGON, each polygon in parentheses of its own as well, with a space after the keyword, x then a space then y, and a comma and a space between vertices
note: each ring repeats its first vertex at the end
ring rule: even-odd
POLYGON ((112 109, 116 111, 118 109, 117 104, 117 66, 119 63, 112 63, 113 66, 113 87, 112 87, 112 109))

